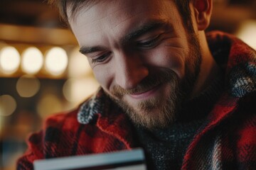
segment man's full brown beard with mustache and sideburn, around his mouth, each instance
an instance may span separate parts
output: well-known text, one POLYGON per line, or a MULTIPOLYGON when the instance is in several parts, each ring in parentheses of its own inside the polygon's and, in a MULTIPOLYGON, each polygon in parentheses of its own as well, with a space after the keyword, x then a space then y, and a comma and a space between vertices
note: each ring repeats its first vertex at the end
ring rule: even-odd
POLYGON ((196 37, 190 37, 190 47, 186 57, 185 76, 179 79, 178 75, 171 69, 160 69, 149 72, 149 76, 143 79, 133 89, 123 89, 121 86, 113 86, 110 92, 106 93, 112 101, 117 103, 137 126, 148 130, 166 128, 174 123, 178 117, 183 103, 191 96, 193 86, 200 72, 201 50, 196 37), (156 86, 169 86, 161 97, 153 97, 148 100, 139 101, 135 107, 125 100, 124 96, 129 94, 142 93, 156 86))

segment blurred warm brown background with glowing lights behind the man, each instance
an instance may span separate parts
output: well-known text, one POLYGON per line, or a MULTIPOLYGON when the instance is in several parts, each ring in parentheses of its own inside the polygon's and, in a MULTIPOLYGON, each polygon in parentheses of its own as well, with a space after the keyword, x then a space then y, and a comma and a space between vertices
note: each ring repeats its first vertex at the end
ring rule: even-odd
MULTIPOLYGON (((256 49, 256 1, 215 0, 208 30, 256 49)), ((0 169, 15 169, 30 132, 98 87, 58 11, 44 0, 0 0, 0 169)))

